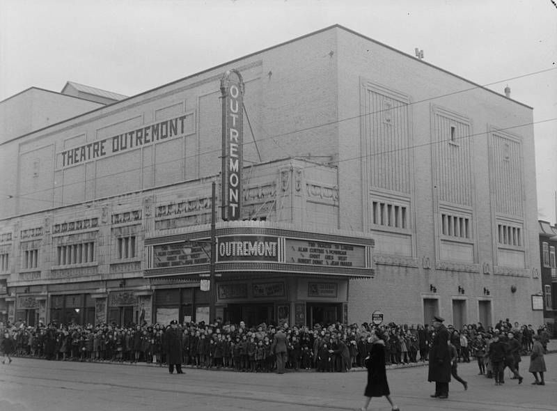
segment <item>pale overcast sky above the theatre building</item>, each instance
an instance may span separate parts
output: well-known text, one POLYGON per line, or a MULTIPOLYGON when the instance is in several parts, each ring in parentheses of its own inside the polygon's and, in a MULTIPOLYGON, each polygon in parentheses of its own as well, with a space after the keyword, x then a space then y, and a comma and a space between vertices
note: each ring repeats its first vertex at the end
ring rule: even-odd
POLYGON ((538 218, 557 222, 555 0, 0 0, 0 101, 73 81, 135 95, 341 24, 533 107, 538 218))

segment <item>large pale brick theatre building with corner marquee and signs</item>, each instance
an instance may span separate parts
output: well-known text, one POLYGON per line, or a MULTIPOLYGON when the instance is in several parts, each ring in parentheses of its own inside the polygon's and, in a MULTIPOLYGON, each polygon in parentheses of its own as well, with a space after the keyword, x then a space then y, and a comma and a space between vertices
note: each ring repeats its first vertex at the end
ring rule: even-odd
POLYGON ((342 26, 132 97, 30 88, 0 102, 1 319, 541 323, 532 123, 342 26))

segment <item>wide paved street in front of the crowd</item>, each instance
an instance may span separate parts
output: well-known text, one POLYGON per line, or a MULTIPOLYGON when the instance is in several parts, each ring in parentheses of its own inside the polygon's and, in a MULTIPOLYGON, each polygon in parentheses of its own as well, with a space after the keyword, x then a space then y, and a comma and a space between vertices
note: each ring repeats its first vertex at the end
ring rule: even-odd
MULTIPOLYGON (((460 364, 469 382, 464 391, 451 382, 448 400, 430 398, 427 367, 388 371, 393 399, 401 410, 524 410, 553 411, 557 405, 557 354, 545 357, 546 385, 477 375, 474 362, 460 364)), ((15 358, 0 365, 0 410, 354 410, 361 406, 366 373, 235 373, 185 369, 170 375, 155 366, 49 362, 15 358)), ((506 378, 508 378, 506 371, 506 378)), ((384 398, 373 398, 370 410, 389 410, 384 398)))

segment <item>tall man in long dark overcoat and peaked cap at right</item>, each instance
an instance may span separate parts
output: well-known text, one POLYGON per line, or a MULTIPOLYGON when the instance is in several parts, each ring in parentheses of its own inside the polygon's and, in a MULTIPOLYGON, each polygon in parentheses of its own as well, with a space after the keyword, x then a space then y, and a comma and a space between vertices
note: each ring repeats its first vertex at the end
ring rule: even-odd
POLYGON ((448 398, 448 383, 450 382, 450 351, 448 341, 450 334, 443 325, 444 318, 433 317, 435 335, 430 347, 430 368, 427 381, 435 382, 434 398, 448 398))

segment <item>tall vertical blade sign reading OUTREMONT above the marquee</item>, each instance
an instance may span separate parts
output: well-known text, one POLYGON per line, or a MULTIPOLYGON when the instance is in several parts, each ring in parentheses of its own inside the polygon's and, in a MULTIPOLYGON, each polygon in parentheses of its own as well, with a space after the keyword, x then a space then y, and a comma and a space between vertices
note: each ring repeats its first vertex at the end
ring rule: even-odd
POLYGON ((222 219, 242 214, 244 81, 237 70, 221 78, 222 93, 222 219))

